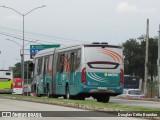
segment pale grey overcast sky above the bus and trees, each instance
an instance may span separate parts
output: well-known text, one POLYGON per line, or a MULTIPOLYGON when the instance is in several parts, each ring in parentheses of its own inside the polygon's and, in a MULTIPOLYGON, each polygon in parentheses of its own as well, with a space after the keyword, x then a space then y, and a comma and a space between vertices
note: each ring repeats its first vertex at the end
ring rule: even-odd
MULTIPOLYGON (((0 0, 24 17, 25 60, 30 45, 108 42, 121 45, 146 34, 158 35, 159 0, 0 0)), ((20 62, 23 17, 0 7, 0 69, 20 62)))

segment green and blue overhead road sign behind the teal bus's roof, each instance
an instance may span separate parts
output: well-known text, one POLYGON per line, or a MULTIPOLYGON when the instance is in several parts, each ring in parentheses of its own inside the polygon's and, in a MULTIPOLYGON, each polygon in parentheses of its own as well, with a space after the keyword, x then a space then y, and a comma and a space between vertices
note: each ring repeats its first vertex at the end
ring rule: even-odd
POLYGON ((48 49, 48 48, 58 48, 60 44, 41 44, 41 45, 30 45, 30 59, 33 59, 34 56, 41 50, 48 49))

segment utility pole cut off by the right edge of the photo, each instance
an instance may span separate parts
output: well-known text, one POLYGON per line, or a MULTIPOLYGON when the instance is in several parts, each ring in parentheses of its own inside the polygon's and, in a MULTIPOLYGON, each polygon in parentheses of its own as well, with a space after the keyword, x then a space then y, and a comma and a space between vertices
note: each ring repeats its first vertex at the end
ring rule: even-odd
POLYGON ((160 98, 160 25, 159 25, 159 31, 158 31, 158 60, 157 60, 157 66, 158 66, 158 98, 160 98))

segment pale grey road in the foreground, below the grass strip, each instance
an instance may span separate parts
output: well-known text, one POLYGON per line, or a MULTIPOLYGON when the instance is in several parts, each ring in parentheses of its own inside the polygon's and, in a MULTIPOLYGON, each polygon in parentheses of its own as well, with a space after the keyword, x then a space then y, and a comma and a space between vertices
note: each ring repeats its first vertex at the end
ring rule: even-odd
MULTIPOLYGON (((1 117, 0 120, 53 120, 53 119, 56 119, 56 120, 106 120, 106 119, 107 120, 117 120, 117 119, 119 120, 137 120, 137 119, 141 119, 141 118, 134 118, 134 117, 130 117, 130 118, 129 117, 117 117, 117 115, 113 115, 109 113, 99 113, 99 112, 94 112, 94 114, 92 113, 91 116, 89 117, 80 117, 81 115, 83 115, 82 114, 83 112, 88 114, 89 111, 76 109, 76 108, 70 108, 70 107, 57 106, 57 105, 17 101, 17 100, 10 100, 10 99, 0 99, 0 111, 1 112, 18 111, 21 114, 22 114, 22 111, 23 112, 29 111, 30 113, 32 113, 33 111, 38 112, 38 113, 41 113, 40 111, 52 111, 52 115, 55 114, 56 111, 59 111, 58 113, 56 113, 56 114, 59 114, 59 117, 43 117, 43 115, 42 115, 42 118, 39 118, 39 117, 38 118, 1 117), (67 113, 66 111, 69 111, 69 114, 71 114, 71 117, 64 117, 64 115, 67 113), (72 115, 74 116, 77 113, 79 114, 78 117, 72 117, 72 115), (111 117, 93 117, 96 114, 97 116, 101 115, 101 116, 111 116, 111 117)), ((13 112, 11 114, 13 114, 13 112)))

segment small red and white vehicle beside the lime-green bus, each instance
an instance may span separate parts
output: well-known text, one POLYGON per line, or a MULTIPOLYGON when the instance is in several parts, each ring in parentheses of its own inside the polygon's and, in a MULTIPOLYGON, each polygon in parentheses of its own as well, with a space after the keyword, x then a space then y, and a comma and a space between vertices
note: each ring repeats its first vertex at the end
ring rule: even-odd
POLYGON ((23 94, 22 78, 13 78, 12 94, 23 94))

